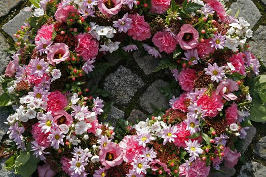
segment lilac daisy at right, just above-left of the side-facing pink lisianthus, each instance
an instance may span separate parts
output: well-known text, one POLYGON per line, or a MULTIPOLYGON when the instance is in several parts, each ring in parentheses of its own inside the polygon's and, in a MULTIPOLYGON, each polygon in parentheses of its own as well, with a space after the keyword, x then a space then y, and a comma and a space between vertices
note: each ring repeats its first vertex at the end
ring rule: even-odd
POLYGON ((222 80, 222 77, 225 76, 223 69, 225 66, 218 67, 216 63, 211 65, 209 63, 208 68, 204 68, 206 75, 211 75, 211 80, 216 81, 217 83, 222 80))

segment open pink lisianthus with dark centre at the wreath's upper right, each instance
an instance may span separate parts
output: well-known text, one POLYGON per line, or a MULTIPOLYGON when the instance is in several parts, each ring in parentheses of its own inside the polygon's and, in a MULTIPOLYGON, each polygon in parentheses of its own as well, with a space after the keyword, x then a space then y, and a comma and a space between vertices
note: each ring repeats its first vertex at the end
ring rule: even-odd
POLYGON ((199 32, 193 26, 185 24, 177 34, 177 41, 183 50, 191 50, 198 46, 199 32))

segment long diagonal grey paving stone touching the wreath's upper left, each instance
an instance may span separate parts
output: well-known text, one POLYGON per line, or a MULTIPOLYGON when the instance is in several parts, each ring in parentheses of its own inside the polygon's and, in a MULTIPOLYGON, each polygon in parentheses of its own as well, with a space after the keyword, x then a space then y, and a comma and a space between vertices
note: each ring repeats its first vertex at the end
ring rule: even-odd
POLYGON ((6 23, 2 29, 8 33, 14 40, 16 37, 13 36, 17 32, 18 29, 23 25, 23 23, 32 15, 31 12, 25 12, 22 9, 18 15, 16 15, 12 20, 6 23))

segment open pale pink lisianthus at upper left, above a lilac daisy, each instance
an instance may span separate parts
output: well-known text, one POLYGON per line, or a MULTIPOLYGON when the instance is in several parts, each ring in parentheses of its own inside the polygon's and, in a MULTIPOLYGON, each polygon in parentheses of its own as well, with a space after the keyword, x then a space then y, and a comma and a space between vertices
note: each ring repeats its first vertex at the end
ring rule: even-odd
POLYGON ((55 66, 55 64, 66 61, 69 56, 69 48, 65 43, 55 43, 50 47, 47 59, 51 65, 55 66))

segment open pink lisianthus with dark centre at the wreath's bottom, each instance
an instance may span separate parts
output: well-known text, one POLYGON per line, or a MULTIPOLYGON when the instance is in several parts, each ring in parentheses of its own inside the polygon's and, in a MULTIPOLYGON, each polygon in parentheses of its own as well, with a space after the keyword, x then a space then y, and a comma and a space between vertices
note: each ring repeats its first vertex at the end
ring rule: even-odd
POLYGON ((108 143, 100 150, 99 158, 105 169, 120 165, 123 162, 121 151, 122 149, 119 145, 113 142, 108 143))

